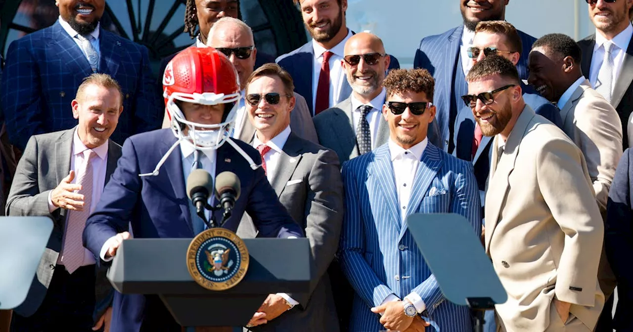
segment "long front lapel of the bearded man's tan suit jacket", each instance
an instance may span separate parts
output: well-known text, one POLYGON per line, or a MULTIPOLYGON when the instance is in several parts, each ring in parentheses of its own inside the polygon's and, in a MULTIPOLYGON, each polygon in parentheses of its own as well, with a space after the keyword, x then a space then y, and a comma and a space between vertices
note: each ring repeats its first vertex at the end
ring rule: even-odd
POLYGON ((518 151, 521 141, 525 133, 529 129, 530 121, 536 113, 529 107, 525 106, 517 123, 515 123, 510 137, 506 141, 505 148, 503 149, 503 156, 499 163, 497 163, 499 152, 499 140, 501 136, 497 135, 494 138, 492 144, 492 166, 490 168, 489 186, 486 192, 486 252, 489 248, 490 241, 494 235, 494 229, 499 221, 499 214, 503 202, 505 202, 506 195, 508 194, 508 187, 510 185, 510 173, 515 167, 515 161, 517 160, 518 151), (488 236, 490 233, 490 236, 488 236))

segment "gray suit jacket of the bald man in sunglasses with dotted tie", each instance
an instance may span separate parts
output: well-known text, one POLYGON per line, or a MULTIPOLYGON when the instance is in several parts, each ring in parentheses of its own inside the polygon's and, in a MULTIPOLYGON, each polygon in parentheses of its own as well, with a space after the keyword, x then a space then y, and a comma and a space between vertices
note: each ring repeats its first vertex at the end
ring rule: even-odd
MULTIPOLYGON (((358 157, 358 144, 352 120, 351 96, 333 108, 326 109, 313 118, 319 144, 332 149, 339 156, 341 164, 358 157)), ((372 137, 374 149, 389 140, 389 123, 380 115, 378 132, 372 137)))

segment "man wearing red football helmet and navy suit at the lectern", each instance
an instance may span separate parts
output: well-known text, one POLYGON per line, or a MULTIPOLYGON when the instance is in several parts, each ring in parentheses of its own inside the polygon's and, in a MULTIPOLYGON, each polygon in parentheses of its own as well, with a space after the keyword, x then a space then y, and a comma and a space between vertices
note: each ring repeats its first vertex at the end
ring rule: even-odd
MULTIPOLYGON (((240 98, 229 59, 211 47, 185 49, 167 65, 163 86, 172 128, 125 141, 118 167, 86 222, 84 246, 102 263, 111 261, 130 237, 128 221, 135 238, 191 238, 203 231, 205 224, 185 192, 184 179, 193 168, 203 168, 214 179, 222 171, 239 177, 241 195, 223 228, 237 230, 246 211, 260 237, 303 237, 266 180, 259 152, 229 138, 240 98)), ((222 220, 222 211, 210 214, 222 220)), ((157 295, 116 292, 112 321, 110 331, 181 328, 157 295)))

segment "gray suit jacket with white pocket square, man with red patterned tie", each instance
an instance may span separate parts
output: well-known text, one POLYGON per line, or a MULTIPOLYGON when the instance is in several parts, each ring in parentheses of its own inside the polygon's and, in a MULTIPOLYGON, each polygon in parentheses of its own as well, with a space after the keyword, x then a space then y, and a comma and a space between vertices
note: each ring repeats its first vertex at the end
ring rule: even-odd
MULTIPOLYGON (((306 231, 311 248, 310 293, 289 294, 299 302, 292 310, 253 331, 339 331, 327 267, 341 236, 343 185, 334 152, 291 132, 271 183, 292 218, 306 231)), ((248 214, 237 228, 242 238, 255 237, 248 214)))

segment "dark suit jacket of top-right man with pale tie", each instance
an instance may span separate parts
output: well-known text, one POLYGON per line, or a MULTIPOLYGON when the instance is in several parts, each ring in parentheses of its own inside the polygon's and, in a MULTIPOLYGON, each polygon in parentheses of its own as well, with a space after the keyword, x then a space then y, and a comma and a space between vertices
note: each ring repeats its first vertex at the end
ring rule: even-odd
MULTIPOLYGON (((632 40, 633 41, 633 40, 632 40)), ((596 46, 596 34, 582 39, 578 42, 582 51, 582 73, 587 79, 591 75, 591 59, 593 58, 593 49, 596 46)), ((633 111, 633 42, 629 42, 629 48, 625 54, 622 69, 618 75, 615 87, 613 87, 613 95, 611 96, 611 106, 615 108, 622 121, 622 147, 629 147, 629 117, 633 111)))

